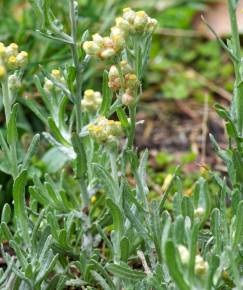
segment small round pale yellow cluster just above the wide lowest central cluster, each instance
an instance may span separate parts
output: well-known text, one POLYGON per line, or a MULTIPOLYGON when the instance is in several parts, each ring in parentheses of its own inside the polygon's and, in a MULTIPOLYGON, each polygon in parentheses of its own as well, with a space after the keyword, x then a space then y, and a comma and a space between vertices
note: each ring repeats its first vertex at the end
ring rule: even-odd
POLYGON ((93 90, 86 90, 84 92, 84 98, 81 101, 81 106, 84 111, 89 113, 98 110, 102 103, 102 97, 100 92, 95 92, 93 90))

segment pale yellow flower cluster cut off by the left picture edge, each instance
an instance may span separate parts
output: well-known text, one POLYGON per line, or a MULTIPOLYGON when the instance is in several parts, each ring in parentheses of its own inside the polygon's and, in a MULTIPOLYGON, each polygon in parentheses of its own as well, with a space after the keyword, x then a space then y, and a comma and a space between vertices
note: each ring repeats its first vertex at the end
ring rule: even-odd
POLYGON ((8 70, 22 68, 28 62, 28 53, 19 51, 16 43, 5 46, 0 42, 0 79, 7 75, 8 70))

